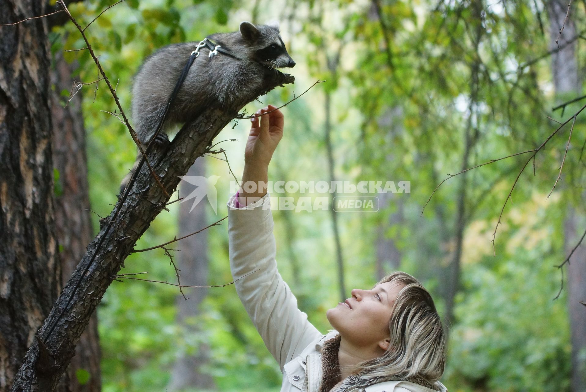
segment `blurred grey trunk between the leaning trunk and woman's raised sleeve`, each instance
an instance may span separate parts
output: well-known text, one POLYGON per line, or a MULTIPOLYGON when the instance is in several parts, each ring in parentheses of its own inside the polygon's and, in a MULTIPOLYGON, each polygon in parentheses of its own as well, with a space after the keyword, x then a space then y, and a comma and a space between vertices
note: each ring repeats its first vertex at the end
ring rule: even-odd
MULTIPOLYGON (((189 169, 187 175, 205 177, 206 165, 205 160, 196 160, 189 169)), ((183 181, 179 187, 179 196, 188 197, 196 189, 195 185, 183 181)), ((179 205, 179 236, 188 235, 207 226, 206 208, 207 201, 201 201, 193 211, 192 201, 187 201, 179 205)), ((180 269, 180 282, 182 285, 189 286, 206 286, 207 283, 207 231, 202 231, 183 239, 178 249, 180 269)), ((177 323, 183 328, 183 333, 188 336, 197 336, 201 334, 201 329, 197 327, 195 320, 199 315, 199 306, 203 299, 206 298, 207 289, 183 289, 183 293, 188 298, 185 300, 182 295, 177 296, 177 306, 179 309, 177 323)), ((209 362, 209 347, 205 344, 204 339, 198 339, 202 342, 197 346, 197 352, 190 354, 183 352, 175 361, 171 374, 171 383, 169 391, 178 391, 185 388, 212 389, 213 379, 210 374, 202 370, 209 362)))

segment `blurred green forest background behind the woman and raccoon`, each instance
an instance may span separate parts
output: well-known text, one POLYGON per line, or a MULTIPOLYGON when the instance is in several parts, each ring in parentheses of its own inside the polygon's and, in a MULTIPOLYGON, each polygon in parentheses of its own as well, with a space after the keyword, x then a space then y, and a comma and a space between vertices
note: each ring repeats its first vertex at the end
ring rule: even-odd
MULTIPOLYGON (((83 26, 111 4, 69 9, 83 26)), ((568 4, 559 0, 126 0, 86 34, 126 109, 132 76, 161 46, 236 31, 241 21, 279 21, 297 62, 283 71, 295 85, 248 111, 326 82, 281 109, 285 135, 270 180, 411 182, 409 194, 384 195, 376 214, 273 211, 280 272, 309 320, 326 332, 325 311, 341 292, 347 298, 399 269, 424 282, 449 324, 441 380, 449 390, 577 392, 586 390, 586 244, 571 264, 564 260, 586 229, 586 113, 573 117, 586 100, 553 108, 584 95, 585 8, 572 2, 566 20, 568 4), (568 119, 534 160, 529 152, 456 175, 422 215, 448 173, 540 147, 568 119)), ((87 50, 64 51, 85 46, 72 23, 55 23, 50 41, 53 66, 64 59, 69 67, 64 75, 98 79, 87 50)), ((78 87, 70 104, 83 97, 96 234, 136 153, 107 113, 116 108, 103 82, 78 87)), ((53 89, 64 106, 70 82, 53 89)), ((218 147, 238 178, 249 124, 239 121, 217 138, 237 139, 218 147)), ((137 249, 226 216, 233 176, 223 159, 199 158, 190 173, 219 176, 217 215, 207 202, 191 213, 189 203, 169 205, 137 249)), ((62 181, 55 170, 57 196, 62 181)), ((175 248, 183 284, 232 280, 225 222, 175 248)), ((146 279, 176 282, 162 249, 129 256, 121 273, 146 271, 146 279)), ((234 286, 184 292, 189 300, 160 283, 108 288, 97 312, 103 391, 278 391, 281 373, 234 286)), ((76 377, 91 383, 83 369, 76 377)))

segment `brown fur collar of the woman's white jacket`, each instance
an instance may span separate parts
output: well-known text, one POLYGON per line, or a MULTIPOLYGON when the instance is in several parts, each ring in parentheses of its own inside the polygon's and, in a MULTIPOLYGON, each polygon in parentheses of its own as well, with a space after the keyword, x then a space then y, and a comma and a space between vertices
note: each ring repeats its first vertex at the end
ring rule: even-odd
POLYGON ((340 385, 336 385, 342 381, 340 364, 338 362, 338 350, 341 339, 342 337, 338 334, 333 339, 329 339, 323 343, 321 356, 323 376, 319 392, 344 392, 356 387, 367 387, 373 384, 383 383, 384 381, 396 380, 410 381, 411 383, 419 384, 434 391, 441 391, 438 386, 430 383, 430 381, 427 381, 421 376, 405 378, 398 376, 369 377, 367 374, 364 374, 362 376, 349 376, 340 385))

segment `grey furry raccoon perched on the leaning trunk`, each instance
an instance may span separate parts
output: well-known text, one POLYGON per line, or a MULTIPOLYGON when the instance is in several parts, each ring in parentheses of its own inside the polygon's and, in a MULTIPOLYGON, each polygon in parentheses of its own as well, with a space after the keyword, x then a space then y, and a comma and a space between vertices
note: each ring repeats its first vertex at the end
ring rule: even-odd
MULTIPOLYGON (((295 66, 275 24, 255 26, 242 22, 237 32, 216 33, 207 38, 230 50, 237 59, 223 53, 209 58, 209 49, 200 49, 159 134, 194 119, 206 107, 229 106, 234 100, 258 91, 270 69, 295 66)), ((143 145, 154 136, 169 96, 198 42, 159 49, 135 76, 132 117, 143 145)))

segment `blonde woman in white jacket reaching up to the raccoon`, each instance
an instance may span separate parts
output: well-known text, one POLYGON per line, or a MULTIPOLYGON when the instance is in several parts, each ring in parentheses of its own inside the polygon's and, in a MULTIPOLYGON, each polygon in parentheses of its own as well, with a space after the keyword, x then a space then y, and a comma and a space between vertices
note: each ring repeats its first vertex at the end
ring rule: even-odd
MULTIPOLYGON (((257 111, 260 121, 251 119, 243 184, 268 181, 268 164, 284 125, 275 109, 269 105, 257 111)), ((297 309, 277 271, 267 191, 243 185, 228 206, 236 291, 281 366, 281 392, 447 391, 438 381, 444 372, 445 332, 417 279, 394 272, 373 289, 352 290, 351 298, 326 313, 335 330, 323 335, 297 309)))

